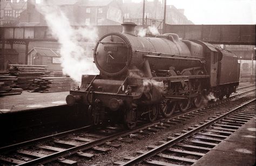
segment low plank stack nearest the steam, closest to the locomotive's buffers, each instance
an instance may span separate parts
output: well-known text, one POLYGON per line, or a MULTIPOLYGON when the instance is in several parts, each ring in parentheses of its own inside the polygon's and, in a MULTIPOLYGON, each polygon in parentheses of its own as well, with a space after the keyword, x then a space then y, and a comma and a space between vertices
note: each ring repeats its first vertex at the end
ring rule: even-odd
POLYGON ((44 77, 33 79, 29 89, 33 92, 52 93, 70 91, 78 86, 78 83, 70 77, 44 77))

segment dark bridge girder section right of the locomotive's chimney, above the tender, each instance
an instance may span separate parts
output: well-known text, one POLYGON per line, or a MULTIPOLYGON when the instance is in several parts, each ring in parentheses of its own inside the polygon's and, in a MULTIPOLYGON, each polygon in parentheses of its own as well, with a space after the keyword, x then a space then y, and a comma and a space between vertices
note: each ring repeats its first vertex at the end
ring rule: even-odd
POLYGON ((255 25, 170 25, 164 33, 212 44, 255 45, 255 25))

